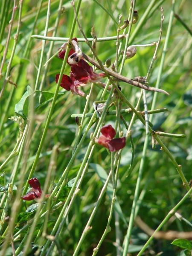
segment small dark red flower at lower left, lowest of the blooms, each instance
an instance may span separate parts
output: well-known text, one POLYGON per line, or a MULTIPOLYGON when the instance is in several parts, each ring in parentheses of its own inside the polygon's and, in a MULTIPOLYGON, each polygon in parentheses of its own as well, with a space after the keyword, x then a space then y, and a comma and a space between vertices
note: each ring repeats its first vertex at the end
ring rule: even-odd
POLYGON ((32 187, 31 191, 26 195, 23 195, 21 198, 25 201, 31 201, 33 199, 41 198, 41 184, 37 178, 32 178, 28 180, 29 185, 32 187))

